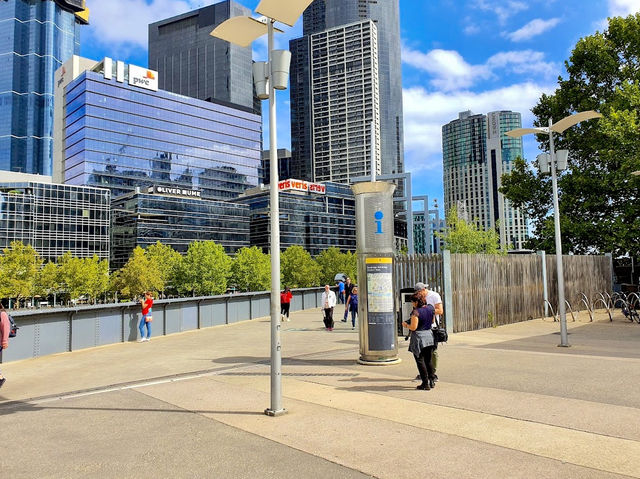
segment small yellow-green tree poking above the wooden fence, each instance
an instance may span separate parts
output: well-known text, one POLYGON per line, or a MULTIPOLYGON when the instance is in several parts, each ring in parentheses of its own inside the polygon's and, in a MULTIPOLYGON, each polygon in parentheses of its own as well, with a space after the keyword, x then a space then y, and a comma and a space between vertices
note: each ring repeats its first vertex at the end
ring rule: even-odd
POLYGON ((452 253, 506 253, 500 249, 500 238, 495 230, 484 231, 473 222, 467 223, 458 217, 455 207, 447 214, 447 228, 444 234, 436 234, 444 241, 444 249, 452 253))

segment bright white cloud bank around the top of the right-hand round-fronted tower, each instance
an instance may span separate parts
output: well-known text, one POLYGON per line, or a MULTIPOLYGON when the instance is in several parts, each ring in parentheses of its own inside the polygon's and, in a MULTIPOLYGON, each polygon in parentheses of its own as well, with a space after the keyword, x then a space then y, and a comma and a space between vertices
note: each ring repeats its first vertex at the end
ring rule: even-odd
MULTIPOLYGON (((404 89, 405 170, 442 174, 442 126, 457 119, 459 112, 471 110, 486 114, 512 110, 522 114, 523 126, 529 126, 534 120, 531 108, 542 93, 552 93, 555 88, 555 84, 526 82, 482 92, 429 92, 423 87, 404 89)), ((535 141, 531 145, 536 150, 535 141)), ((530 157, 533 154, 525 153, 530 157)))

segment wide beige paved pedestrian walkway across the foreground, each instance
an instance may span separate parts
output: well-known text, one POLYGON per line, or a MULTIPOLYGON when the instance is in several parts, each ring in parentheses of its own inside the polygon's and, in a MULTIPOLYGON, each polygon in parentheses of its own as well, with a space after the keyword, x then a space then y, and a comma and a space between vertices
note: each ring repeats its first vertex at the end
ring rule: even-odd
POLYGON ((571 348, 551 320, 450 335, 432 391, 402 338, 400 364, 363 366, 350 323, 291 318, 277 418, 268 319, 3 365, 3 477, 640 477, 621 315, 578 315, 571 348))

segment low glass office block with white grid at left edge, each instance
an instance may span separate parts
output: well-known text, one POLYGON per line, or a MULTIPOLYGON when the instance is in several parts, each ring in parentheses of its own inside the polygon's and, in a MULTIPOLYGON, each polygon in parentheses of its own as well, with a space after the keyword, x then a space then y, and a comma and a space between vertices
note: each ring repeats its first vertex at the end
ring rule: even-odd
POLYGON ((109 259, 109 190, 37 182, 0 183, 0 248, 30 244, 47 261, 109 259))

